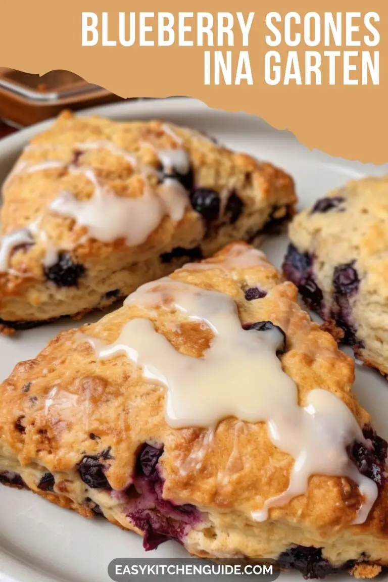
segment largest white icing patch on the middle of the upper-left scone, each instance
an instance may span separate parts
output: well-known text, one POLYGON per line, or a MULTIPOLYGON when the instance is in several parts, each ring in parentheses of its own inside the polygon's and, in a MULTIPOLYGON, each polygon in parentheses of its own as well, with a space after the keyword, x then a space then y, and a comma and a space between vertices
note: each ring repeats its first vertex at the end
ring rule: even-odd
POLYGON ((144 243, 165 215, 180 220, 188 203, 182 190, 161 188, 159 193, 147 182, 144 182, 141 197, 116 196, 101 186, 92 169, 69 169, 83 173, 90 180, 95 188, 93 196, 88 200, 77 200, 72 193, 63 191, 49 208, 86 226, 89 235, 102 242, 124 238, 129 246, 144 243))

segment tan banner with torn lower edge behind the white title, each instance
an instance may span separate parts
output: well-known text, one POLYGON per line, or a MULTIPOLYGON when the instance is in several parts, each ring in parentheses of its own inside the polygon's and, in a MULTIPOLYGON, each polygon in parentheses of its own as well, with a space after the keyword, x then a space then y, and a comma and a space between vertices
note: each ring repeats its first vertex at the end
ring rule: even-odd
POLYGON ((67 0, 65 3, 3 0, 0 8, 0 65, 30 73, 70 70, 122 97, 190 95, 211 107, 255 113, 274 127, 291 130, 309 148, 319 148, 332 155, 363 162, 388 162, 388 4, 386 0, 373 3, 365 0, 325 0, 321 2, 321 10, 316 4, 306 0, 241 0, 237 3, 231 0, 148 0, 132 3, 123 0, 67 0), (250 12, 254 13, 247 46, 244 46, 236 9, 241 12, 243 24, 248 22, 250 12), (140 15, 140 10, 153 12, 154 17, 140 15), (286 17, 291 10, 297 14, 286 17), (312 10, 315 11, 313 16, 312 10), (136 37, 133 34, 130 36, 131 11, 134 12, 132 33, 136 37), (161 11, 171 13, 164 16, 163 23, 172 24, 174 20, 175 42, 170 46, 158 45, 158 39, 168 42, 172 38, 168 31, 159 37, 158 12, 161 11), (193 12, 193 16, 180 16, 179 21, 179 11, 193 12), (88 24, 90 29, 93 23, 96 24, 95 19, 98 22, 94 33, 91 30, 87 33, 84 27, 86 41, 94 40, 96 43, 92 46, 82 45, 83 12, 96 15, 84 16, 84 24, 88 24), (120 12, 122 16, 119 16, 120 12), (198 12, 206 13, 200 16, 199 26, 198 12), (220 12, 229 12, 230 15, 220 15, 220 12), (282 20, 276 22, 277 16, 272 18, 277 33, 269 30, 266 24, 269 12, 279 13, 282 20), (326 15, 325 25, 325 13, 330 12, 333 15, 326 15), (347 16, 347 12, 353 13, 353 16, 347 16), (371 15, 371 12, 376 15, 371 15), (333 33, 329 20, 334 18, 334 24, 338 24, 337 13, 341 13, 342 22, 333 33), (298 16, 301 24, 298 23, 298 16), (124 25, 121 33, 120 19, 124 25), (287 19, 289 29, 285 24, 287 19), (152 30, 144 30, 143 25, 152 27, 152 30), (183 30, 183 25, 192 30, 183 30), (208 34, 201 34, 201 25, 208 25, 208 34), (226 27, 224 34, 219 25, 226 27), (228 25, 232 26, 229 34, 228 25), (296 34, 301 34, 299 44, 287 46, 284 40, 287 30, 291 44, 296 44, 296 34), (212 34, 214 46, 208 46, 212 34), (320 41, 317 34, 320 34, 320 41), (270 41, 276 44, 279 35, 279 45, 267 44, 266 36, 270 36, 270 41), (179 39, 181 44, 186 42, 188 45, 179 45, 179 39), (120 40, 127 44, 133 41, 133 44, 123 46, 120 40), (233 46, 228 46, 232 40, 233 46), (316 44, 317 40, 319 44, 316 44), (154 41, 155 45, 140 46, 144 41, 154 41), (222 41, 223 46, 218 46, 218 42, 222 41), (207 51, 208 56, 205 57, 207 51), (229 56, 228 51, 232 51, 229 56), (269 51, 276 51, 279 55, 266 57, 269 51), (296 51, 297 56, 288 56, 289 51, 296 51), (329 56, 325 51, 336 51, 337 55, 329 56), (347 54, 349 51, 350 54, 347 54), (306 58, 310 65, 317 65, 318 57, 322 60, 319 66, 322 84, 317 84, 319 74, 314 72, 314 66, 310 75, 309 66, 305 66, 306 58), (226 78, 232 84, 225 83, 222 73, 220 84, 215 84, 214 62, 221 58, 226 64, 230 59, 226 78), (269 63, 267 72, 265 58, 269 63), (211 84, 208 85, 205 84, 205 59, 211 63, 208 78, 211 84), (280 59, 280 63, 276 63, 276 59, 280 59), (300 79, 295 74, 296 59, 300 79), (334 61, 335 71, 330 66, 334 61), (274 64, 277 64, 276 68, 274 64), (249 84, 248 65, 252 84, 249 84), (248 79, 240 75, 240 84, 235 84, 239 81, 239 72, 246 73, 248 79), (294 73, 294 78, 291 74, 289 84, 284 84, 290 72, 294 73), (330 84, 330 75, 335 84, 330 84), (309 77, 311 84, 307 84, 309 77), (268 84, 268 80, 278 82, 268 84), (299 81, 301 84, 297 84, 299 81), (352 81, 358 84, 346 84, 352 81), (363 81, 365 84, 362 84, 363 81))

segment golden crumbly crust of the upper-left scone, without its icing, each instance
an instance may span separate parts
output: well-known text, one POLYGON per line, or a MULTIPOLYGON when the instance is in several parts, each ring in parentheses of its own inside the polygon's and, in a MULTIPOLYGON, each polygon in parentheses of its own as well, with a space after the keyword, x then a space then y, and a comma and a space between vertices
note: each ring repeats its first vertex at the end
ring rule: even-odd
POLYGON ((141 283, 172 272, 187 262, 193 249, 207 257, 233 240, 249 240, 266 223, 292 215, 296 203, 293 180, 282 170, 220 147, 200 132, 157 120, 113 122, 64 112, 50 129, 34 137, 16 168, 21 169, 3 187, 2 233, 41 219, 39 228, 45 234, 34 236, 32 245, 17 247, 9 271, 0 272, 0 320, 10 327, 12 322, 28 325, 106 307, 141 283), (130 161, 103 145, 80 151, 77 144, 86 142, 111 143, 136 155, 141 168, 161 172, 158 151, 183 148, 190 172, 176 179, 189 197, 198 189, 215 191, 218 216, 209 223, 189 203, 180 221, 166 215, 147 240, 135 247, 127 246, 123 238, 105 243, 86 236, 84 226, 49 209, 62 191, 77 200, 94 195, 92 182, 83 173, 69 171, 70 166, 91 168, 102 186, 121 197, 141 197, 145 184, 158 189, 161 182, 155 172, 144 180, 130 161), (31 165, 53 160, 63 161, 63 167, 27 171, 31 165), (45 273, 48 248, 65 254, 55 267, 56 281, 48 281, 45 273), (180 252, 166 257, 175 249, 180 252), (188 250, 186 257, 184 250, 188 250), (67 278, 65 285, 61 277, 67 278))

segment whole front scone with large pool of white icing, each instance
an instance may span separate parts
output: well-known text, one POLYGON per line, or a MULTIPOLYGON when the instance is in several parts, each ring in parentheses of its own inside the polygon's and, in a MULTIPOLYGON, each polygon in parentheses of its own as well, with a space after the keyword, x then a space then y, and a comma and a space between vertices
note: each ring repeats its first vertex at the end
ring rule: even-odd
POLYGON ((387 443, 354 363, 232 244, 60 333, 0 388, 0 480, 207 558, 388 564, 387 443))

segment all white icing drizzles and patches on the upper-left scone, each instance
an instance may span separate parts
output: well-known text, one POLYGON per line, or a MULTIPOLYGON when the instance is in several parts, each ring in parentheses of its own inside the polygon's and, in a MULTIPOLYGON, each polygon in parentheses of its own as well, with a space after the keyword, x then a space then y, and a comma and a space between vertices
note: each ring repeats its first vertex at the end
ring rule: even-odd
MULTIPOLYGON (((179 137, 173 133, 168 125, 164 125, 163 130, 173 137, 177 144, 181 144, 179 137)), ((63 146, 62 144, 29 144, 24 148, 24 151, 45 148, 58 150, 65 146, 66 144, 63 144, 63 146)), ((136 155, 108 140, 77 142, 74 144, 74 148, 82 151, 106 149, 112 154, 125 159, 134 168, 139 169, 144 180, 149 172, 157 173, 155 168, 148 166, 146 168, 141 165, 136 155)), ((160 150, 157 151, 157 154, 167 169, 176 169, 177 172, 182 174, 187 173, 190 169, 190 161, 187 152, 183 148, 160 150)), ((151 190, 145 183, 144 194, 139 198, 120 197, 104 189, 99 184, 92 168, 72 166, 68 162, 59 159, 48 159, 35 164, 30 164, 29 160, 21 160, 10 172, 3 183, 3 188, 9 184, 10 180, 21 173, 34 173, 65 167, 69 172, 83 173, 94 185, 94 196, 90 200, 80 201, 72 193, 63 191, 49 205, 49 210, 74 218, 81 226, 86 226, 90 236, 102 242, 125 238, 129 246, 136 246, 147 239, 165 215, 169 215, 177 222, 183 218, 188 204, 188 197, 186 190, 177 180, 172 178, 165 179, 159 185, 157 191, 151 190)), ((58 258, 58 250, 49 241, 47 233, 39 228, 41 218, 26 226, 26 228, 17 230, 0 239, 0 272, 8 271, 9 257, 12 254, 12 250, 18 244, 33 242, 33 236, 40 238, 42 243, 47 246, 43 261, 45 267, 55 264, 58 258)))

